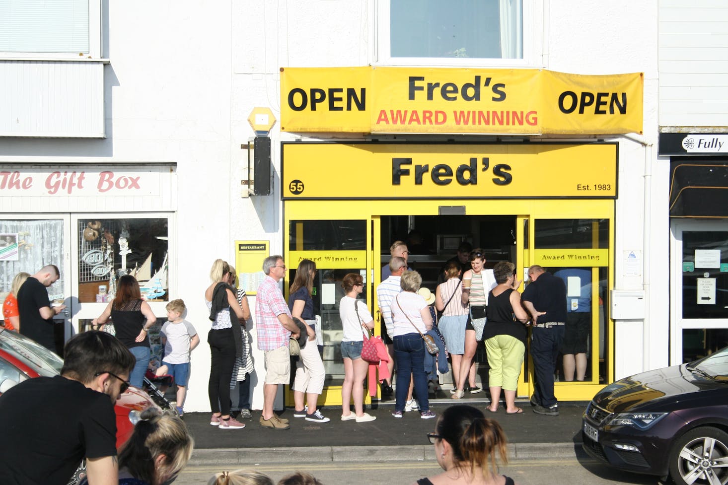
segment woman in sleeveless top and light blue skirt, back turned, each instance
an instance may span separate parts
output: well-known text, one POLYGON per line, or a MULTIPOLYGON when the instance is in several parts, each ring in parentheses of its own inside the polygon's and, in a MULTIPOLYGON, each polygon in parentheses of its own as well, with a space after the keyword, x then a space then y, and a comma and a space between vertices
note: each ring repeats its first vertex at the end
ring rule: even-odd
MULTIPOLYGON (((452 358, 452 376, 454 394, 458 388, 460 364, 465 353, 465 324, 467 323, 467 304, 462 302, 462 284, 460 282, 460 264, 451 261, 445 267, 446 281, 435 288, 435 307, 443 313, 438 328, 445 338, 452 358)), ((468 371, 470 388, 475 387, 475 365, 470 361, 468 371)))

